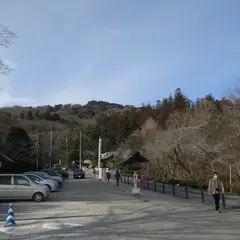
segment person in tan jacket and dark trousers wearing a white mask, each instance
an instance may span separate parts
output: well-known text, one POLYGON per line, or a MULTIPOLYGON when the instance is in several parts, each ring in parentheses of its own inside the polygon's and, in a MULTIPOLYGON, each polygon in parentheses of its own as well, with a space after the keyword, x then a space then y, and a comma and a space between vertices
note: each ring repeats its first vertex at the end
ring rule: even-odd
POLYGON ((215 201, 215 210, 220 213, 220 195, 224 194, 223 183, 218 178, 217 172, 213 173, 213 178, 208 183, 208 193, 212 195, 215 201))

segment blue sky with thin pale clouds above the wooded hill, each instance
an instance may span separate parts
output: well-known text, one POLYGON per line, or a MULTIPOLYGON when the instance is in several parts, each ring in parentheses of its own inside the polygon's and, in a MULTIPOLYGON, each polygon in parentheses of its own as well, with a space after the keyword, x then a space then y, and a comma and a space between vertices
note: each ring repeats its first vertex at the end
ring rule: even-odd
POLYGON ((239 0, 1 0, 0 106, 155 103, 228 95, 240 77, 239 0))

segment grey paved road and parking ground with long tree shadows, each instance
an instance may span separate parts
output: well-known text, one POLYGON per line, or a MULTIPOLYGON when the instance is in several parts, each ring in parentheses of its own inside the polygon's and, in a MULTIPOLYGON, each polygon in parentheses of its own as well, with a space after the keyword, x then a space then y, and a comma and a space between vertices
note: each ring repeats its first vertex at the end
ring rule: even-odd
MULTIPOLYGON (((237 210, 218 214, 212 206, 156 194, 133 197, 113 184, 68 180, 49 201, 14 203, 18 227, 0 227, 0 239, 239 239, 237 210)), ((0 204, 1 220, 7 208, 0 204)))

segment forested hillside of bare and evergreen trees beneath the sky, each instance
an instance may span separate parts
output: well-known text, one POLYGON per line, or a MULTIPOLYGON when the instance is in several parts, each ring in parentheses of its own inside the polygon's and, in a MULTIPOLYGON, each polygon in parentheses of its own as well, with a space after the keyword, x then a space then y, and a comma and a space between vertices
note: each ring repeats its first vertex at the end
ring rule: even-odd
POLYGON ((116 150, 119 158, 140 150, 150 160, 151 175, 199 179, 215 169, 227 178, 231 164, 240 179, 237 101, 216 100, 211 94, 191 101, 178 88, 156 105, 141 108, 91 101, 84 106, 4 108, 0 114, 1 149, 16 161, 35 162, 38 134, 40 163, 48 162, 52 131, 53 161, 68 159, 71 164, 78 159, 81 131, 83 159, 96 161, 101 136, 102 151, 116 150))

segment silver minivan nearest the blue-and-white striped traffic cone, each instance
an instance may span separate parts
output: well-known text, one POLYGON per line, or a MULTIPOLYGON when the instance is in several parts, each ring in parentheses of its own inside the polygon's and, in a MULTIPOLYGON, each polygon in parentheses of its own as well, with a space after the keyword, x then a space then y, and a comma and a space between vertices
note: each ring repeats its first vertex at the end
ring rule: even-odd
POLYGON ((32 199, 41 202, 49 194, 48 187, 35 183, 23 174, 0 174, 0 199, 32 199))

